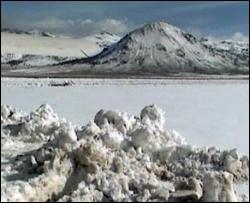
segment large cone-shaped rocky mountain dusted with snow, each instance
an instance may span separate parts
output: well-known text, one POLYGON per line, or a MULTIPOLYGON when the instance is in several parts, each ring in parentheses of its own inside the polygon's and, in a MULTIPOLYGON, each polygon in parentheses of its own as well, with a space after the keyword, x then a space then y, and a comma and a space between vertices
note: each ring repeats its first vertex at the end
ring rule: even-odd
POLYGON ((98 72, 249 72, 248 58, 236 60, 231 51, 211 48, 201 39, 166 22, 147 24, 130 32, 100 54, 69 64, 81 64, 88 70, 98 72))

